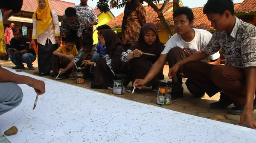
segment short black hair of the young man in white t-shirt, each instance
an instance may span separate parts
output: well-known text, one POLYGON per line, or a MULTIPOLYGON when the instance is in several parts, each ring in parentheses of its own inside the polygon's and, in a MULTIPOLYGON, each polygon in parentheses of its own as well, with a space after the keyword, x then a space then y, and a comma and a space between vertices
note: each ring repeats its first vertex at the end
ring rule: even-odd
POLYGON ((189 7, 187 7, 187 6, 183 6, 183 7, 177 8, 173 12, 173 14, 172 14, 173 19, 175 19, 175 17, 177 17, 177 16, 179 16, 181 14, 185 14, 186 15, 186 17, 189 19, 189 23, 191 23, 191 21, 194 20, 194 13, 193 13, 193 11, 189 7))

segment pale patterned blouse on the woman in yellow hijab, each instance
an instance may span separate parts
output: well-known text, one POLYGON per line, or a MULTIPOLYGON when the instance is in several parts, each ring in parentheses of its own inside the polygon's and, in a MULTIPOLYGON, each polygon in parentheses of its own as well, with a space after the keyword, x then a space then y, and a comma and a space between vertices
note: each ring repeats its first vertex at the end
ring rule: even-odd
POLYGON ((60 34, 60 26, 58 21, 58 15, 55 11, 52 10, 52 22, 47 30, 45 30, 40 35, 37 35, 36 29, 37 29, 37 20, 35 18, 32 18, 33 21, 33 32, 32 37, 38 37, 37 42, 45 45, 47 42, 47 39, 51 40, 52 44, 56 44, 55 41, 55 34, 60 34), (52 30, 52 26, 54 26, 54 30, 52 30))

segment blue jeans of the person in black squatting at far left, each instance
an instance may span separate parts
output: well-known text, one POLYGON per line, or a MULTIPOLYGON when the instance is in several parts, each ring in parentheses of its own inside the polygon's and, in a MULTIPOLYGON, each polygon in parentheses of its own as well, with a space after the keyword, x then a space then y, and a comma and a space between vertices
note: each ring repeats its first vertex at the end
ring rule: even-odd
POLYGON ((9 54, 9 58, 11 59, 12 63, 16 66, 23 67, 23 63, 26 63, 27 66, 32 66, 32 63, 35 61, 36 56, 31 53, 25 54, 9 54))

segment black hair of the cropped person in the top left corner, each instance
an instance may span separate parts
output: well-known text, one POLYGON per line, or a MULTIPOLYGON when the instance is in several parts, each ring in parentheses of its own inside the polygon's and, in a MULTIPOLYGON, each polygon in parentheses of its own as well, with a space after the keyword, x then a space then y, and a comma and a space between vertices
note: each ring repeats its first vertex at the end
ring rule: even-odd
POLYGON ((11 9, 12 13, 18 13, 22 4, 23 0, 1 0, 0 9, 11 9))

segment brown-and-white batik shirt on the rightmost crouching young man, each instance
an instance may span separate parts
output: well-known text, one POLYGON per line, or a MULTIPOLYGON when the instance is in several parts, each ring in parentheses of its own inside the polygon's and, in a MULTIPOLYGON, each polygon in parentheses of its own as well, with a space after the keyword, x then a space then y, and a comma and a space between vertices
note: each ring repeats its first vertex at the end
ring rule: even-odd
POLYGON ((231 34, 227 34, 226 31, 215 31, 202 51, 211 55, 218 52, 220 47, 227 66, 256 66, 256 27, 236 17, 231 34))

